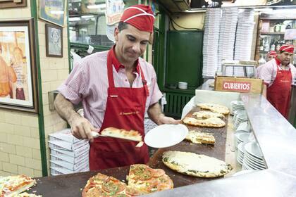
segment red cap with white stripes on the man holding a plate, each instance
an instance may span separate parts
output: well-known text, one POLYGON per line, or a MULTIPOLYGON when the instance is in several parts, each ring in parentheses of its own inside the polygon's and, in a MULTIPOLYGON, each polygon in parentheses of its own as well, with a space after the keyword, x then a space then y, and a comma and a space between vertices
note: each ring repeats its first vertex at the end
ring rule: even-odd
POLYGON ((136 5, 125 8, 121 22, 128 23, 140 31, 153 32, 154 15, 150 6, 136 5))

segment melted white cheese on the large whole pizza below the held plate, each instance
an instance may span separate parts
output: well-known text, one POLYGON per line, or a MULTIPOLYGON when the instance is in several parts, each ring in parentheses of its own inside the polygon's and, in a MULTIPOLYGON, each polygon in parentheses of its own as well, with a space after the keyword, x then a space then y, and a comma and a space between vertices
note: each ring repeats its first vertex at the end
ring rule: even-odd
POLYGON ((228 165, 225 162, 206 155, 168 151, 164 153, 163 158, 167 158, 168 163, 180 166, 181 172, 212 172, 214 174, 221 174, 221 171, 229 171, 228 165))

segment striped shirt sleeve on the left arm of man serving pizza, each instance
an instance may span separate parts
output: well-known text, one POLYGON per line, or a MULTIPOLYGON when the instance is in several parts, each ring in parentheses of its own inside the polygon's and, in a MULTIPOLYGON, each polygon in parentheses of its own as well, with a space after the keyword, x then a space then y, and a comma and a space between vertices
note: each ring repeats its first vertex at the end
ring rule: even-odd
POLYGON ((83 72, 84 67, 85 65, 79 61, 70 72, 66 81, 58 87, 58 91, 75 105, 80 103, 82 98, 87 95, 87 81, 83 72))

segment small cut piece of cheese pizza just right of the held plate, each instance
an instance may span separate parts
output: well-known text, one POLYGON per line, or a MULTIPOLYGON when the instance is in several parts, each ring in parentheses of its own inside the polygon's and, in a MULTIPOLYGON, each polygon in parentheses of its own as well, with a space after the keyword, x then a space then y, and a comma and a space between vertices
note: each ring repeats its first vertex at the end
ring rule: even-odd
POLYGON ((214 134, 204 133, 200 131, 188 132, 185 139, 195 144, 215 144, 214 134))

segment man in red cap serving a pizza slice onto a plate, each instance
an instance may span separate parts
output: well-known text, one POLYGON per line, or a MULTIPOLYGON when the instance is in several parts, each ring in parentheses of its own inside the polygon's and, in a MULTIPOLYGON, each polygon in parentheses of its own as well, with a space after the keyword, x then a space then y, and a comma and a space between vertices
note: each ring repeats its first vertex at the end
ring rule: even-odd
POLYGON ((99 137, 106 127, 137 130, 144 138, 144 114, 158 125, 178 124, 180 120, 161 112, 162 94, 151 64, 140 56, 153 32, 154 15, 149 6, 126 8, 116 27, 116 44, 109 51, 82 58, 68 79, 58 87, 55 107, 68 121, 78 139, 90 139, 90 170, 105 169, 135 163, 147 163, 147 145, 135 147, 134 141, 99 137), (73 104, 82 102, 84 117, 73 104))

